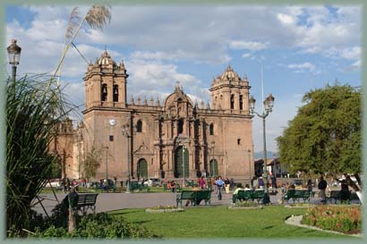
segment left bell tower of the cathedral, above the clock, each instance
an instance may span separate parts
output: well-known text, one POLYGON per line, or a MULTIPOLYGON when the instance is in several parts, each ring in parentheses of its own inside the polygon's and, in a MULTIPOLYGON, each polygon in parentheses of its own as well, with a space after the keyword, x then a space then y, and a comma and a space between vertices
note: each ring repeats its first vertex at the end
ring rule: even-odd
POLYGON ((126 73, 124 62, 119 65, 107 50, 85 73, 85 109, 92 107, 126 107, 126 73))

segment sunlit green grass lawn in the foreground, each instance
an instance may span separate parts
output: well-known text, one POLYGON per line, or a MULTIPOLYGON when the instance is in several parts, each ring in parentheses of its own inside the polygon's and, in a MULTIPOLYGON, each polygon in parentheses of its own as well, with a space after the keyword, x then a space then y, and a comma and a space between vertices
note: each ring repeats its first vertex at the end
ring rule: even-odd
POLYGON ((352 238, 314 231, 285 223, 290 215, 305 209, 266 206, 263 209, 228 210, 227 206, 188 207, 184 212, 149 214, 145 209, 110 212, 132 223, 140 223, 163 238, 352 238))

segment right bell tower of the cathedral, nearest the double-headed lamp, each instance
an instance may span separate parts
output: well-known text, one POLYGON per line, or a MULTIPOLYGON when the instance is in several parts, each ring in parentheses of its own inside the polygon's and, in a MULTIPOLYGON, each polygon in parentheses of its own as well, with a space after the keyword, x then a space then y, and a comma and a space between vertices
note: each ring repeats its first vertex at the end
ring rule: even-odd
POLYGON ((231 66, 213 79, 211 88, 211 104, 213 109, 223 109, 228 114, 249 114, 249 81, 234 72, 231 66))

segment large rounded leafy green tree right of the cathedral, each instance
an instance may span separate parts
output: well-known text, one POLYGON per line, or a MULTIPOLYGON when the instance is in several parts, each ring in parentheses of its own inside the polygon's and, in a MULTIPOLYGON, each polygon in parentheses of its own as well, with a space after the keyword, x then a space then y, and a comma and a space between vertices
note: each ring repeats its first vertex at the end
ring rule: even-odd
MULTIPOLYGON (((349 173, 360 181, 360 89, 327 85, 306 93, 303 102, 305 105, 277 138, 282 164, 289 172, 349 173)), ((353 182, 350 184, 357 189, 353 182)))

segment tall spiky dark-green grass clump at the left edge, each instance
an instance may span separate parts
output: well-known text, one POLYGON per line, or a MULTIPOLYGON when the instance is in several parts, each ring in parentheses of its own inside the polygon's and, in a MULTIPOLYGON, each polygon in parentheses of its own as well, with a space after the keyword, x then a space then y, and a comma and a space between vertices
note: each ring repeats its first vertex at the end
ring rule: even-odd
POLYGON ((65 109, 59 91, 42 76, 9 79, 6 91, 6 223, 7 230, 23 234, 30 228, 30 203, 56 164, 48 143, 65 109))

